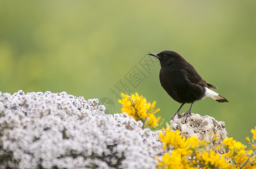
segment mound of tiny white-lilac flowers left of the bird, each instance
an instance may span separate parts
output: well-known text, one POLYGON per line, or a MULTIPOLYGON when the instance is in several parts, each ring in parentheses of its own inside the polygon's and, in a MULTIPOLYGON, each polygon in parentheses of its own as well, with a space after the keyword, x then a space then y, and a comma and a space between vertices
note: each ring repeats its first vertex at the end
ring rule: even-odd
POLYGON ((104 110, 66 92, 0 92, 0 168, 155 168, 150 130, 104 110))

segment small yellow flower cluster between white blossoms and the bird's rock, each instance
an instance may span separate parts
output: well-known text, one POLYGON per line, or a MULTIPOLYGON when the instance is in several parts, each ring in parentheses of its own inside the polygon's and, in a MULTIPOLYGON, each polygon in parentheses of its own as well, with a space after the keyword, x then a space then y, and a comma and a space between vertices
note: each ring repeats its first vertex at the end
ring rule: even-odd
POLYGON ((144 127, 157 127, 158 121, 161 117, 156 118, 155 113, 159 112, 160 109, 155 110, 156 101, 152 104, 147 103, 143 96, 139 96, 138 93, 135 95, 121 94, 122 100, 118 100, 122 104, 122 112, 131 115, 136 121, 142 121, 144 127))

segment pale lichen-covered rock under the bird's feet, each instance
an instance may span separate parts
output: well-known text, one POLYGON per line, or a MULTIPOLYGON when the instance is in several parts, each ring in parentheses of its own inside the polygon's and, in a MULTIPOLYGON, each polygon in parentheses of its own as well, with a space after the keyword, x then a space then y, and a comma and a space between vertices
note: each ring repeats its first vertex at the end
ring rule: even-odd
MULTIPOLYGON (((196 136, 198 139, 206 140, 207 142, 211 141, 214 136, 218 136, 219 139, 213 142, 214 145, 219 145, 228 135, 224 122, 218 122, 215 118, 208 115, 201 116, 194 113, 191 113, 191 116, 187 119, 186 113, 181 114, 181 118, 178 118, 178 115, 176 115, 170 121, 170 127, 173 130, 180 130, 182 136, 196 136)), ((225 149, 221 148, 218 152, 223 154, 225 149)))

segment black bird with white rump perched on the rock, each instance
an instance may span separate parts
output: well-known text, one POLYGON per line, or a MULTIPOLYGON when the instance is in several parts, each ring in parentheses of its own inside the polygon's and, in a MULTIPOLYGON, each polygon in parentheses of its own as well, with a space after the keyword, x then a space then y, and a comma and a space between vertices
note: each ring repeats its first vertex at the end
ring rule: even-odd
MULTIPOLYGON (((229 102, 223 96, 217 94, 210 88, 217 89, 209 84, 197 73, 197 70, 188 63, 181 55, 174 51, 162 51, 159 54, 148 54, 159 59, 161 70, 159 74, 161 86, 175 101, 182 105, 172 116, 172 119, 180 112, 185 103, 191 103, 190 109, 186 112, 186 119, 191 115, 191 108, 195 101, 211 97, 219 103, 229 102)), ((186 121, 185 119, 185 121, 186 121)))

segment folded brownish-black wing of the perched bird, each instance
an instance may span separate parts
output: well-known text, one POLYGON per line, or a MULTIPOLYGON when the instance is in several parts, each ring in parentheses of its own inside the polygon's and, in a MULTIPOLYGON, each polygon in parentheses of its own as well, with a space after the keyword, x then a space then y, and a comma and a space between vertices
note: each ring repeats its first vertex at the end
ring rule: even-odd
POLYGON ((186 71, 186 78, 192 83, 200 84, 201 86, 205 86, 208 88, 215 88, 217 89, 216 86, 209 84, 204 80, 200 75, 197 73, 197 70, 190 64, 189 69, 184 69, 186 71))

